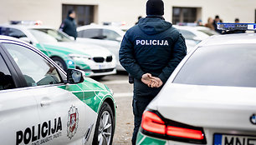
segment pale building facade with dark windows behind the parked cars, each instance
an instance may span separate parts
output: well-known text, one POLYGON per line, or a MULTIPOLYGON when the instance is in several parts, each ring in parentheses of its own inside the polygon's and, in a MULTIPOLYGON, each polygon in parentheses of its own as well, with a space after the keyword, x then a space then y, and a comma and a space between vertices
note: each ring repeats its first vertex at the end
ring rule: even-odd
MULTIPOLYGON (((223 22, 255 23, 255 0, 163 0, 165 15, 171 23, 194 23, 219 15, 223 22)), ((146 16, 146 0, 8 0, 0 5, 0 24, 13 20, 40 20, 59 28, 69 9, 74 9, 79 26, 90 23, 126 23, 133 26, 146 16)))

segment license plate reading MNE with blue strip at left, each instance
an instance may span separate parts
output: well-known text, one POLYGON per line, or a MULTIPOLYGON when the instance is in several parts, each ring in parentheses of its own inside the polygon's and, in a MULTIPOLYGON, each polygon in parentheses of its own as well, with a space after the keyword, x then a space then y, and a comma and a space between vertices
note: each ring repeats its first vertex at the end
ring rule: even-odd
POLYGON ((213 145, 256 145, 256 136, 215 133, 213 145))

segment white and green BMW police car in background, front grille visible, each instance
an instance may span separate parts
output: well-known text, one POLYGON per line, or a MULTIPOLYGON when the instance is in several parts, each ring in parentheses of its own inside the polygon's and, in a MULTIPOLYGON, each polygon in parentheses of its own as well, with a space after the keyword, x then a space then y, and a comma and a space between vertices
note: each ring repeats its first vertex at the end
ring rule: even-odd
POLYGON ((33 44, 64 70, 83 70, 88 77, 115 74, 115 56, 105 47, 74 42, 64 32, 43 26, 5 25, 0 34, 33 44))

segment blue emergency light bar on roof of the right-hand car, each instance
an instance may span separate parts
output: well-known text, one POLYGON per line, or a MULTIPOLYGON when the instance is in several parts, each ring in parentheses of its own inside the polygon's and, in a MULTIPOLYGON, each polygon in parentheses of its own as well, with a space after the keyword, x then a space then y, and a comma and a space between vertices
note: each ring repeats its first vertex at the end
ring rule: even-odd
POLYGON ((255 31, 256 30, 256 23, 218 23, 218 30, 225 30, 225 31, 255 31))

